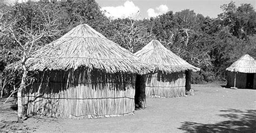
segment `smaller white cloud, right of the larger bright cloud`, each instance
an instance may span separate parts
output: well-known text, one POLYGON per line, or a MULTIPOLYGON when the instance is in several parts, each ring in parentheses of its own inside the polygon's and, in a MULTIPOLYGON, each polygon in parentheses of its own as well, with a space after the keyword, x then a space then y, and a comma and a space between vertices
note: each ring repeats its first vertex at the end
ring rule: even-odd
POLYGON ((156 11, 152 8, 148 9, 147 10, 147 15, 149 17, 157 17, 159 16, 160 14, 164 14, 166 12, 169 11, 169 8, 167 7, 167 5, 159 5, 157 8, 156 8, 156 11))

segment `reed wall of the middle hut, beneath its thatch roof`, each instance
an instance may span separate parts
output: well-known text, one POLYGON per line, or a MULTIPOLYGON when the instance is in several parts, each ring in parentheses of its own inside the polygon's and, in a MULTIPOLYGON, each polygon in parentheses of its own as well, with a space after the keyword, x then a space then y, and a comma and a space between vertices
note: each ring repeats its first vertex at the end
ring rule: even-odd
POLYGON ((185 72, 163 73, 161 71, 146 76, 147 98, 170 98, 185 95, 185 72))

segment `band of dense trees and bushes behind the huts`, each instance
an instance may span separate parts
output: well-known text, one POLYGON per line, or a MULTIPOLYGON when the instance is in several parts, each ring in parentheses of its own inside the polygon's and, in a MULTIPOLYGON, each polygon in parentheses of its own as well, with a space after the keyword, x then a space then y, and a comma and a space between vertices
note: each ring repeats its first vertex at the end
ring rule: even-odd
POLYGON ((173 53, 201 68, 194 83, 225 80, 225 69, 244 54, 256 57, 256 13, 250 4, 221 5, 218 18, 193 10, 169 11, 143 20, 110 19, 95 1, 27 2, 1 5, 0 62, 21 60, 22 48, 46 45, 79 24, 88 24, 133 53, 157 39, 173 53))

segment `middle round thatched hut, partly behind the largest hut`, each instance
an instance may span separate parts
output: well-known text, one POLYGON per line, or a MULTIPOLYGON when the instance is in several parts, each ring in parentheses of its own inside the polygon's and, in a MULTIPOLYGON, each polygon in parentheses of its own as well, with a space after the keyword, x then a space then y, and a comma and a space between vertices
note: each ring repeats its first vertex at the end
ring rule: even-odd
POLYGON ((154 70, 146 76, 146 97, 179 97, 185 95, 186 70, 200 69, 173 54, 159 41, 152 40, 135 53, 154 70))

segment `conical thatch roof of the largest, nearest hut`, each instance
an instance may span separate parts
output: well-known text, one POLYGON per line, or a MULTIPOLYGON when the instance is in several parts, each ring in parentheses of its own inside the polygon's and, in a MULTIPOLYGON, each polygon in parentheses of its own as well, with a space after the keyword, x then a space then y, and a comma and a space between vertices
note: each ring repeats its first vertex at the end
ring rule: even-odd
MULTIPOLYGON (((16 63, 17 64, 17 63, 16 63)), ((87 24, 78 25, 68 33, 37 50, 26 65, 29 71, 68 70, 85 67, 109 73, 145 73, 150 71, 129 50, 108 40, 87 24)), ((11 65, 11 68, 18 67, 11 65)))

